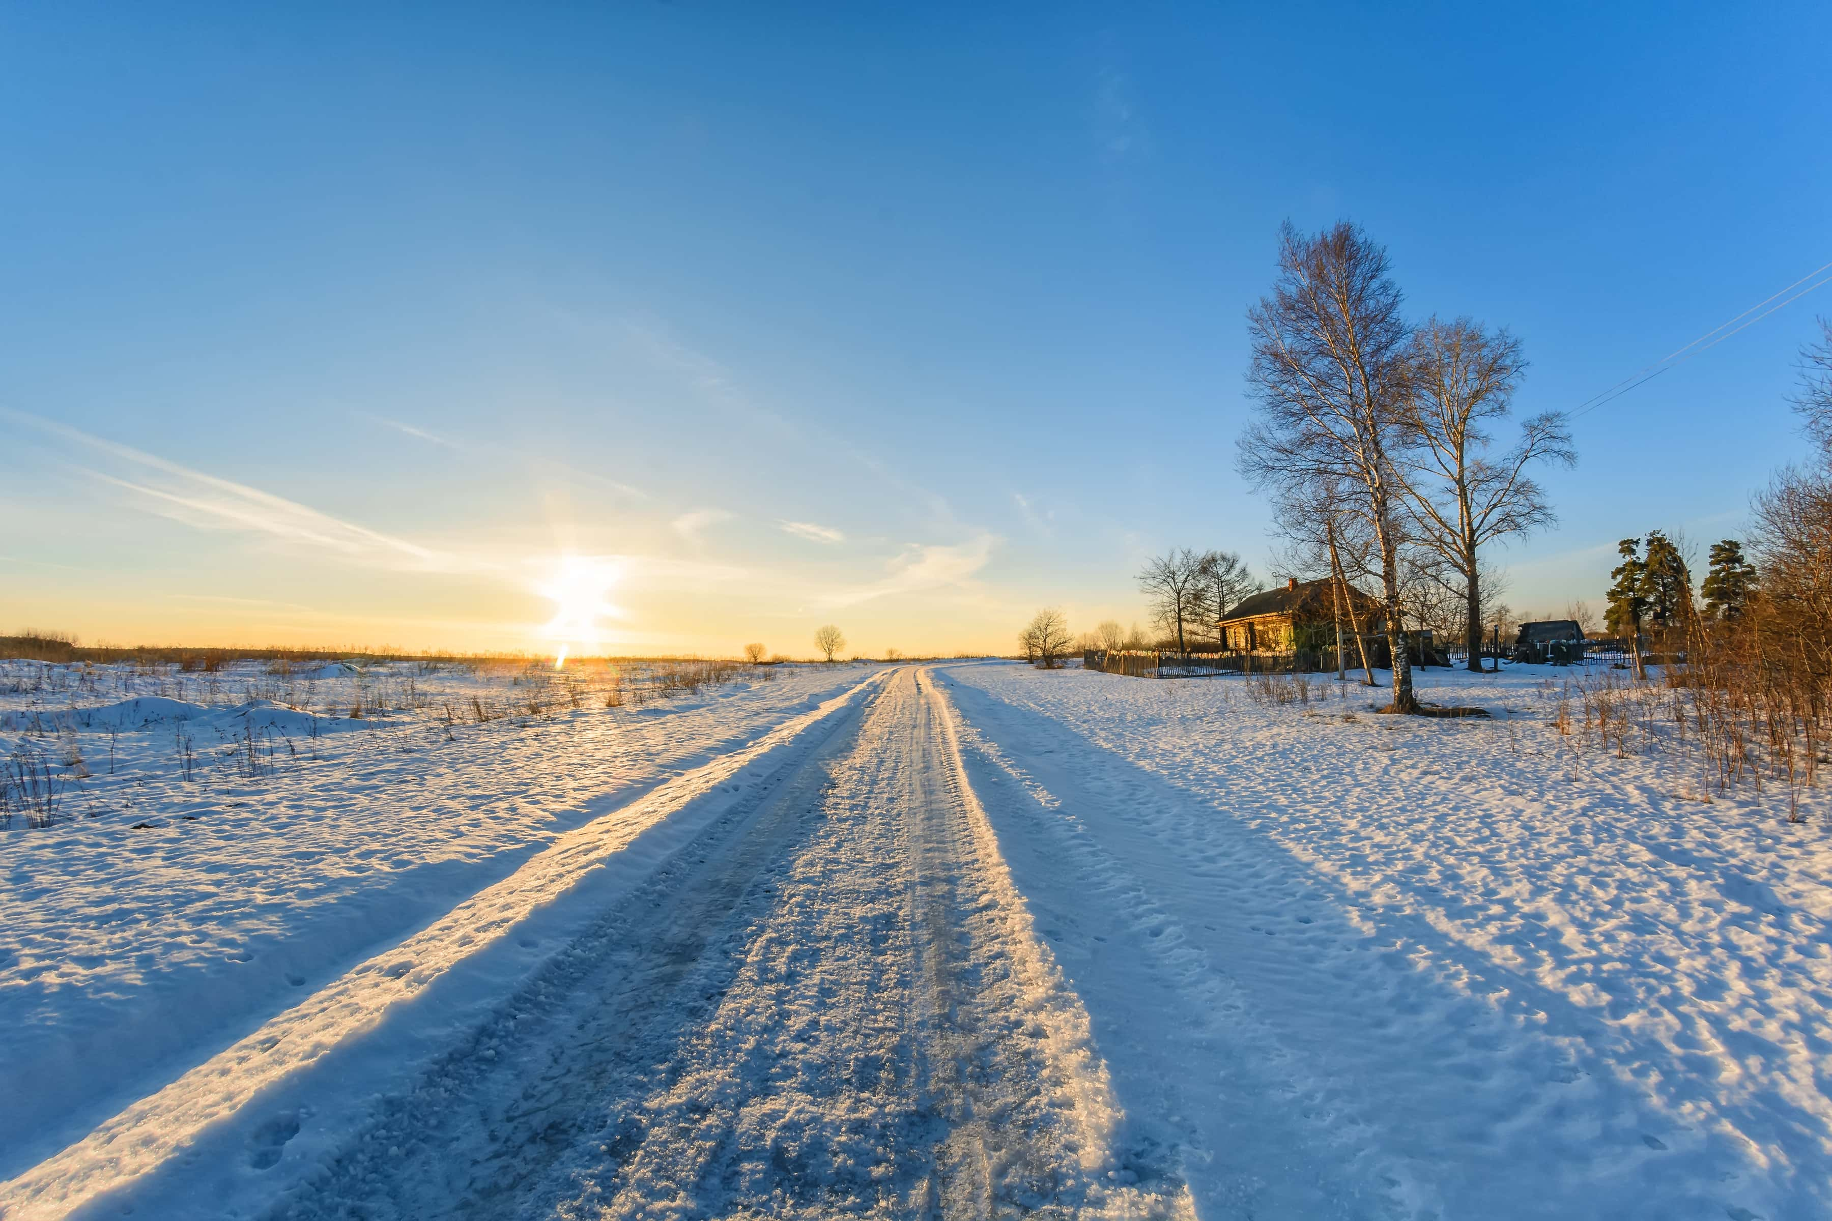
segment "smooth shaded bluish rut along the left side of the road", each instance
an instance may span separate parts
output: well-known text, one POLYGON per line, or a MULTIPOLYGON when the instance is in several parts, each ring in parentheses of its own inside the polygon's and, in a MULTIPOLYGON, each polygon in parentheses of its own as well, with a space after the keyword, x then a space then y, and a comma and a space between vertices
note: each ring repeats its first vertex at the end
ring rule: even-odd
POLYGON ((762 800, 720 818, 606 912, 267 1216, 551 1212, 550 1179, 568 1177, 555 1166, 616 1157, 630 1142, 619 1118, 630 1091, 731 987, 856 719, 837 721, 762 800))

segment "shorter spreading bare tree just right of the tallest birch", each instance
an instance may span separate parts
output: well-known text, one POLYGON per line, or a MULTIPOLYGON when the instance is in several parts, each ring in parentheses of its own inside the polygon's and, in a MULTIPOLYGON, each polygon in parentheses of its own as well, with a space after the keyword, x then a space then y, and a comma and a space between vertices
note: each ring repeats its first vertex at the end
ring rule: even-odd
POLYGON ((1482 668, 1482 547, 1550 525, 1544 489, 1528 474, 1543 461, 1577 461, 1561 412, 1522 421, 1511 448, 1491 454, 1489 428, 1513 410, 1526 373, 1521 340, 1469 319, 1427 319, 1412 331, 1411 394, 1401 410, 1407 447, 1398 463, 1414 536, 1464 599, 1471 670, 1482 668))

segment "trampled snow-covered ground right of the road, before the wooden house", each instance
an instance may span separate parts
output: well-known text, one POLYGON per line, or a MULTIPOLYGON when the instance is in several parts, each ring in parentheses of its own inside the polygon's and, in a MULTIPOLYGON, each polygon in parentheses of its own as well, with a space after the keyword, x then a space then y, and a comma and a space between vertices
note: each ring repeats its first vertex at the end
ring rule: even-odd
MULTIPOLYGON (((1566 672, 1568 674, 1568 672, 1566 672)), ((1832 1216, 1832 802, 1577 756, 1557 672, 943 674, 1013 879, 1204 1216, 1832 1216)))

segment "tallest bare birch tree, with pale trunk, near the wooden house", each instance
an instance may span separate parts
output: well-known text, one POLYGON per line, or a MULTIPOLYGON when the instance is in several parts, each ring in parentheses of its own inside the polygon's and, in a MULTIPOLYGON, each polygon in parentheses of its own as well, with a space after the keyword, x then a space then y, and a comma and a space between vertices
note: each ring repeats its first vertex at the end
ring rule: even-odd
POLYGON ((1392 654, 1392 710, 1416 712, 1400 599, 1405 542, 1396 450, 1405 445, 1409 328, 1387 251, 1356 225, 1315 236, 1284 225, 1279 276, 1248 311, 1248 386, 1259 417, 1240 439, 1240 472, 1259 487, 1315 480, 1345 489, 1379 555, 1392 654))

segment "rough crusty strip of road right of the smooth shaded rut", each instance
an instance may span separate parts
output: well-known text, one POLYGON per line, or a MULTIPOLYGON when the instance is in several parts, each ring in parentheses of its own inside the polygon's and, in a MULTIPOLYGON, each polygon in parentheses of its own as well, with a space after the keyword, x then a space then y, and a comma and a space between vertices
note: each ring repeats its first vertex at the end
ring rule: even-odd
POLYGON ((900 674, 872 708, 716 1010, 584 1150, 559 1216, 1185 1212, 1167 1166, 1116 1153, 1086 1018, 927 686, 900 674))

